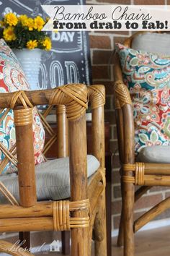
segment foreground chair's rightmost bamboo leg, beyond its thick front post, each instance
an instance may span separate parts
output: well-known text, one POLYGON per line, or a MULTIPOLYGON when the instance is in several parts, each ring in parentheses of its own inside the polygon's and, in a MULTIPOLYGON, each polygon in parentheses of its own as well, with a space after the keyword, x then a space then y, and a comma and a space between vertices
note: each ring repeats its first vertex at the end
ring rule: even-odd
POLYGON ((105 189, 99 200, 99 210, 94 221, 95 256, 107 256, 105 189))

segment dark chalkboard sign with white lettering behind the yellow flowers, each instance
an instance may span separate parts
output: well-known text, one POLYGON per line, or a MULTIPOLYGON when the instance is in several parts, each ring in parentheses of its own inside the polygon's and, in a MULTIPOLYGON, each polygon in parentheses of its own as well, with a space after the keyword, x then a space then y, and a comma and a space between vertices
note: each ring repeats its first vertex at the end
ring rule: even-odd
MULTIPOLYGON (((0 0, 1 17, 9 12, 47 17, 41 4, 84 4, 84 0, 0 0)), ((51 51, 44 51, 37 89, 55 88, 72 82, 91 83, 89 36, 82 31, 49 32, 51 51)))

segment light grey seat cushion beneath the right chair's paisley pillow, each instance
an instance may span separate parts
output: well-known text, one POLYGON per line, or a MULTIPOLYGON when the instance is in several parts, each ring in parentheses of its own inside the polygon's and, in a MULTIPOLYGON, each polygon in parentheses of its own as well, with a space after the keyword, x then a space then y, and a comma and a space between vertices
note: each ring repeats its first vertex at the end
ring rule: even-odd
POLYGON ((170 163, 170 146, 142 148, 137 161, 144 163, 170 163))

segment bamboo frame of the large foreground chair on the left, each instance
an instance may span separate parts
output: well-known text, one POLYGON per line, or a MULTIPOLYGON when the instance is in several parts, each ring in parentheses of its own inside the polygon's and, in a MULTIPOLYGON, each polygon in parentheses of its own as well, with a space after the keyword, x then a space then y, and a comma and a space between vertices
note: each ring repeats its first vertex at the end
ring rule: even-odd
POLYGON ((94 230, 95 255, 107 255, 104 101, 105 93, 102 85, 92 85, 87 88, 86 85, 71 84, 53 90, 0 94, 0 108, 14 109, 17 146, 17 158, 16 150, 12 148, 12 152, 6 152, 6 158, 2 163, 8 163, 8 161, 17 163, 19 180, 19 202, 1 184, 1 192, 12 205, 0 206, 0 232, 19 231, 22 238, 29 239, 30 231, 71 230, 71 255, 89 256, 91 255, 91 236, 94 230), (85 116, 88 99, 92 109, 91 147, 93 155, 100 163, 99 169, 89 182, 86 173, 85 116), (32 107, 46 104, 50 106, 41 118, 51 135, 51 140, 45 145, 44 153, 56 140, 56 135, 45 120, 50 109, 55 105, 58 119, 58 157, 65 157, 68 151, 70 155, 70 200, 37 202, 32 143, 32 107))

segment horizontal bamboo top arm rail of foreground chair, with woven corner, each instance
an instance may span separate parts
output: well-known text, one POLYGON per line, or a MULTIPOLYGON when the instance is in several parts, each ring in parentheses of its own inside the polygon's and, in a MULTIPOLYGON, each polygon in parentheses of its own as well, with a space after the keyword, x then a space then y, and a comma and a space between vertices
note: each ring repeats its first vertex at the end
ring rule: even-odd
POLYGON ((68 119, 78 119, 87 108, 86 85, 69 84, 50 90, 0 93, 0 108, 27 108, 45 104, 66 105, 68 119))

